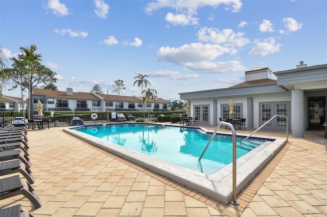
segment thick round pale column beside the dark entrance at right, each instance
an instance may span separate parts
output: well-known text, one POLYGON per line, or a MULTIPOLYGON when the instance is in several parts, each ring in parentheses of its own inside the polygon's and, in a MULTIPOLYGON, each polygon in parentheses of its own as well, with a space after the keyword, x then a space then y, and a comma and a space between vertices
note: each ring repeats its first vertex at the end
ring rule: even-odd
POLYGON ((304 92, 303 90, 292 90, 292 136, 304 137, 304 92))

